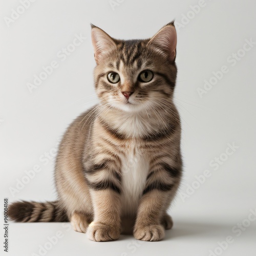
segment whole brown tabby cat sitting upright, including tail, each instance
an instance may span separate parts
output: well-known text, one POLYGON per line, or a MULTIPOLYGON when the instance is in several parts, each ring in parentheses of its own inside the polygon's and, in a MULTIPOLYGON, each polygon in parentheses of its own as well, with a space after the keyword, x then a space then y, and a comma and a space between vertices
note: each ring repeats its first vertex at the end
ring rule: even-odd
POLYGON ((55 163, 58 199, 14 202, 18 222, 70 221, 93 241, 132 230, 159 241, 182 176, 181 122, 173 102, 174 22, 152 38, 119 40, 91 25, 99 103, 68 127, 55 163))

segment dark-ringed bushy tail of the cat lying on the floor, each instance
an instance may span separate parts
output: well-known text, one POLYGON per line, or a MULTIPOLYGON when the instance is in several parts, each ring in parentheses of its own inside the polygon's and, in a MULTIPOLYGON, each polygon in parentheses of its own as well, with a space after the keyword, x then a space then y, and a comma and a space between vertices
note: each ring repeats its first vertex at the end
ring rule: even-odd
POLYGON ((14 202, 8 207, 8 217, 16 222, 66 222, 66 211, 53 202, 14 202))

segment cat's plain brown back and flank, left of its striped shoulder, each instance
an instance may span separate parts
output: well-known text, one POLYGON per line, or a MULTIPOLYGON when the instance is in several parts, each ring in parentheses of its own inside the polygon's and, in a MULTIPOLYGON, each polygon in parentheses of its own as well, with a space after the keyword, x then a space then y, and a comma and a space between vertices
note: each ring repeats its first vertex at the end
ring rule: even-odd
POLYGON ((54 179, 59 206, 68 212, 68 216, 77 205, 86 204, 87 211, 92 212, 89 190, 82 172, 82 158, 96 114, 97 105, 78 116, 69 125, 59 145, 54 179), (75 194, 79 196, 72 196, 75 194))

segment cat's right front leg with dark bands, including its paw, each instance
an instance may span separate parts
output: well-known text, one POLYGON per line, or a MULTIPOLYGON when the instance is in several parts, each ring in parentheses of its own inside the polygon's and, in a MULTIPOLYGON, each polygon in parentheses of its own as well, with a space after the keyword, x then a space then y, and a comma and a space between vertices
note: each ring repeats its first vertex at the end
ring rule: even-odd
POLYGON ((137 212, 134 227, 136 239, 159 241, 164 238, 164 229, 172 227, 172 219, 166 215, 166 208, 176 193, 180 173, 179 168, 170 167, 166 163, 151 170, 137 212), (166 225, 165 219, 169 222, 166 225))

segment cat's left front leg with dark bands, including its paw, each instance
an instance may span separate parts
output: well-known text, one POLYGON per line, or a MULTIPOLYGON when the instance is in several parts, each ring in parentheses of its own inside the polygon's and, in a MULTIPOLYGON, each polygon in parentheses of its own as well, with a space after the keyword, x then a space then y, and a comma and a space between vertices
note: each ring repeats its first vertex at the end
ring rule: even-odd
POLYGON ((116 165, 113 159, 103 159, 86 173, 94 207, 94 220, 88 227, 89 239, 93 241, 112 241, 120 236, 121 177, 116 165))

